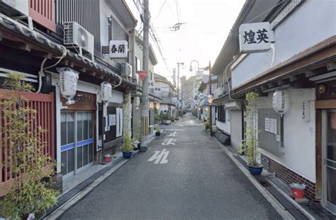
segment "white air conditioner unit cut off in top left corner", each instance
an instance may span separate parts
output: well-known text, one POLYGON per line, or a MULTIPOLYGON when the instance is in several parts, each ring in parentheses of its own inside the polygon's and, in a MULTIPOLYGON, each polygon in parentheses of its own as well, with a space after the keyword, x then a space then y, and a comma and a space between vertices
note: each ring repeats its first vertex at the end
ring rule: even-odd
POLYGON ((0 0, 1 11, 8 13, 8 16, 28 16, 28 0, 0 0))

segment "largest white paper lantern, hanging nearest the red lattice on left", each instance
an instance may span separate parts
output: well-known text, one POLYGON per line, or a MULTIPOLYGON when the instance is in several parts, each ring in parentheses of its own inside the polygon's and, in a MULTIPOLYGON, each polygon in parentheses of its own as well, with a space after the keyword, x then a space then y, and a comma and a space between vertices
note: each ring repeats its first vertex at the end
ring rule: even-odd
POLYGON ((61 95, 67 99, 67 105, 72 105, 75 103, 72 98, 74 98, 74 95, 76 95, 79 72, 69 67, 56 69, 60 73, 61 95))

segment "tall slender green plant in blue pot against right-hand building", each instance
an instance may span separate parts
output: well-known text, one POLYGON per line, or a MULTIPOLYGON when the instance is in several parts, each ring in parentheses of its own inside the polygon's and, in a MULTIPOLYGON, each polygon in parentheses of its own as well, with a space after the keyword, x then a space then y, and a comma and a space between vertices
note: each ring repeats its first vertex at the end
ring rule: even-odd
POLYGON ((263 166, 257 162, 257 134, 259 130, 257 128, 257 100, 259 93, 250 92, 246 94, 246 154, 247 154, 247 166, 252 175, 260 175, 262 173, 263 166))

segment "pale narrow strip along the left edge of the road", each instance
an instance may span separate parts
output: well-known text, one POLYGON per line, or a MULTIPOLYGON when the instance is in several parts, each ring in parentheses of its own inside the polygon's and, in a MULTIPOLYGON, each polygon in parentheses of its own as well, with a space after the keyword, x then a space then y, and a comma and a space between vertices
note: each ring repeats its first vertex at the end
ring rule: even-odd
POLYGON ((79 200, 82 199, 84 196, 86 196, 89 192, 91 192, 91 190, 93 190, 94 187, 96 187, 101 182, 103 182, 103 180, 108 178, 112 173, 116 172, 118 168, 121 168, 121 166, 123 166, 128 161, 130 160, 124 160, 124 161, 121 161, 121 163, 118 163, 116 166, 111 168, 111 170, 108 170, 106 173, 101 175, 98 179, 94 180, 94 182, 88 185, 84 190, 77 193, 77 195, 69 199, 65 204, 63 204, 61 207, 59 207, 54 212, 52 212, 49 216, 46 216, 45 219, 53 220, 53 219, 59 218, 63 213, 67 211, 67 209, 70 209, 74 204, 79 202, 79 200))

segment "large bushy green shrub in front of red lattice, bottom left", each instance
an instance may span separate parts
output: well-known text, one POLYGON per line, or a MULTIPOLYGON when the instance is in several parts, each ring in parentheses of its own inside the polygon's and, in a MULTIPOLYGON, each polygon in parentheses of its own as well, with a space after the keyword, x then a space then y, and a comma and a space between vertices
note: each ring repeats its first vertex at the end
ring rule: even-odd
POLYGON ((9 98, 0 101, 0 110, 4 113, 0 120, 8 122, 2 129, 11 134, 0 140, 0 151, 4 152, 4 143, 11 143, 11 156, 4 163, 13 168, 8 175, 13 176, 14 181, 0 201, 1 212, 10 219, 27 219, 29 214, 38 218, 57 202, 59 193, 50 188, 50 183, 43 181, 54 174, 55 164, 50 156, 43 154, 47 143, 40 138, 45 133, 42 127, 28 129, 35 123, 36 111, 23 105, 27 101, 23 91, 32 91, 33 87, 24 83, 20 74, 7 76, 9 79, 4 86, 9 88, 6 92, 9 98))

